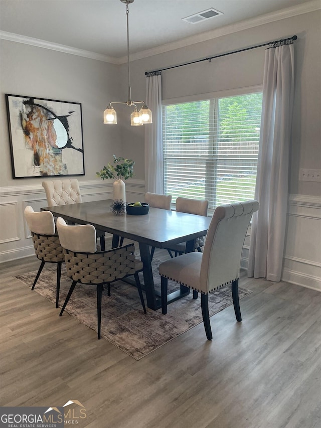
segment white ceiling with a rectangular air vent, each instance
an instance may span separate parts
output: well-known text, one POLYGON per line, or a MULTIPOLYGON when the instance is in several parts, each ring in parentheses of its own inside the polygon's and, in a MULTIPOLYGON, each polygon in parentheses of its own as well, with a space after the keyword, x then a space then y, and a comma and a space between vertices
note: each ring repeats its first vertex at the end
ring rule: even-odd
MULTIPOLYGON (((130 53, 187 38, 186 43, 191 44, 193 37, 195 43, 201 33, 308 3, 310 0, 135 0, 129 5, 130 53), (182 21, 209 8, 223 15, 198 24, 182 21)), ((127 52, 126 6, 120 0, 0 0, 0 32, 119 59, 127 52)))

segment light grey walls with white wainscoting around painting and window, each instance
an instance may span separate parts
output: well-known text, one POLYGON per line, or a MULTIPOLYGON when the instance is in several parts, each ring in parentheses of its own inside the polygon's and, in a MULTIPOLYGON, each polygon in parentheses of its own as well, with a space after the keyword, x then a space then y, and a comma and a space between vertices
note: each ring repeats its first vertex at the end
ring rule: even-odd
MULTIPOLYGON (((131 63, 133 99, 145 98, 144 72, 176 65, 270 40, 293 36, 296 83, 291 140, 287 240, 283 278, 321 290, 321 184, 300 182, 300 168, 321 168, 321 12, 294 16, 237 33, 149 56, 131 63)), ((116 66, 75 55, 1 41, 0 261, 32 253, 22 209, 28 202, 44 206, 42 179, 13 180, 10 167, 5 93, 35 95, 82 103, 85 172, 79 177, 85 200, 111 195, 95 172, 113 153, 135 160, 135 178, 127 199, 144 193, 144 135, 128 123, 127 107, 117 108, 117 126, 102 124, 111 100, 127 98, 126 65, 116 66), (25 187, 24 187, 25 186, 25 187), (8 227, 10 222, 10 227, 8 227)), ((163 98, 262 84, 264 48, 163 72, 163 98)), ((140 197, 139 197, 140 196, 140 197)), ((31 204, 32 204, 31 203, 31 204)), ((245 248, 247 250, 247 248, 245 248)), ((243 260, 246 265, 246 256, 243 260)))

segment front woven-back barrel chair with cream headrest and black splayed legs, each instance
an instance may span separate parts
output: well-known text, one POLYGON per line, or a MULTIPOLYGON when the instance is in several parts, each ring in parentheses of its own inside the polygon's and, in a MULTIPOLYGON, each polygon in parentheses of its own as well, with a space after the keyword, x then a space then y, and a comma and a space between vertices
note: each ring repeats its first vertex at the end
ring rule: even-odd
POLYGON ((110 296, 110 284, 129 275, 134 275, 140 302, 146 314, 138 277, 138 272, 142 270, 143 265, 134 257, 133 244, 107 251, 97 251, 94 226, 91 224, 69 226, 61 217, 57 219, 57 230, 64 249, 67 275, 72 279, 60 316, 62 316, 77 282, 95 286, 97 289, 98 339, 100 339, 103 286, 107 284, 108 296, 110 296))

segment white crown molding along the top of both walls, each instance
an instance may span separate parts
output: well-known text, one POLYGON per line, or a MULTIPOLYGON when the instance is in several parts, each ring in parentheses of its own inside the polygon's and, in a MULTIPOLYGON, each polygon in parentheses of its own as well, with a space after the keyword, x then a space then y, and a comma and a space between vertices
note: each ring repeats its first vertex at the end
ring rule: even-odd
MULTIPOLYGON (((297 15, 307 14, 309 12, 314 12, 320 9, 321 9, 321 0, 311 0, 311 2, 308 2, 308 3, 303 3, 297 6, 281 9, 279 11, 272 12, 270 14, 260 15, 258 17, 240 21, 235 24, 226 25, 216 30, 207 31, 205 33, 187 37, 185 39, 178 40, 176 42, 167 43, 165 45, 161 45, 156 48, 147 49, 145 51, 131 54, 130 61, 136 61, 136 60, 147 58, 153 55, 158 55, 165 52, 173 51, 175 49, 194 45, 196 43, 205 42, 207 40, 215 39, 217 37, 226 36, 228 34, 233 34, 238 31, 247 30, 253 27, 269 24, 271 22, 280 21, 286 18, 297 16, 297 15)), ((116 65, 125 64, 127 62, 127 56, 120 57, 120 58, 111 57, 108 55, 98 54, 95 52, 85 51, 82 49, 76 49, 71 46, 51 43, 45 40, 22 36, 20 34, 9 33, 1 30, 0 30, 0 39, 9 40, 11 42, 24 43, 27 45, 36 46, 44 49, 51 49, 54 51, 64 52, 69 55, 78 55, 81 57, 108 62, 116 65)))

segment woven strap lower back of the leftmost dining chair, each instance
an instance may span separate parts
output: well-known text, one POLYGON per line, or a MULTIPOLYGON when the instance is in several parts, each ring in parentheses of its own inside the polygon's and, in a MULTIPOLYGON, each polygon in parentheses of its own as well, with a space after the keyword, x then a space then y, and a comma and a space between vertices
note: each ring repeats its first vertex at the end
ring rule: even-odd
POLYGON ((51 263, 65 261, 58 235, 39 235, 34 232, 31 232, 31 234, 36 256, 40 260, 51 263))

